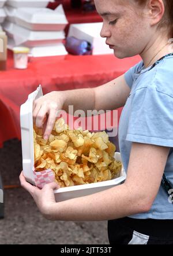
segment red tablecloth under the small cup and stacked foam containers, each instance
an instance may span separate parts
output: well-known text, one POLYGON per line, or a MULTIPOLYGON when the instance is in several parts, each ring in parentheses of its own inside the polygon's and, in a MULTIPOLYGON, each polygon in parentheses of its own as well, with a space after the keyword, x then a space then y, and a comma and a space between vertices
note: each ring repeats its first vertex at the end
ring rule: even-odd
POLYGON ((114 55, 67 55, 34 58, 27 70, 14 70, 12 53, 8 55, 7 71, 0 71, 0 147, 3 141, 21 138, 20 105, 39 84, 44 94, 52 90, 95 87, 111 81, 140 61, 139 56, 118 60, 114 55))

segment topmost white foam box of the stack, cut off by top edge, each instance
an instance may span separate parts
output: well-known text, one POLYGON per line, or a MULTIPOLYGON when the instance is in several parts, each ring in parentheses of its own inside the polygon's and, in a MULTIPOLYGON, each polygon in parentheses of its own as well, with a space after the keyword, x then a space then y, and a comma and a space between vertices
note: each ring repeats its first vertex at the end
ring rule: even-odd
POLYGON ((7 5, 15 8, 21 7, 46 7, 48 2, 54 2, 54 0, 7 0, 7 5))

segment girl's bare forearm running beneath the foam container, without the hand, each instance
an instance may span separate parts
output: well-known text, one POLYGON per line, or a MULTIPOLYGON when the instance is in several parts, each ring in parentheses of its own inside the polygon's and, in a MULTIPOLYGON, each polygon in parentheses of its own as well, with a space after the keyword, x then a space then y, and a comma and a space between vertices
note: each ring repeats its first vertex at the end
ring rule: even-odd
POLYGON ((125 184, 51 206, 47 218, 61 221, 103 221, 148 211, 147 203, 125 184))

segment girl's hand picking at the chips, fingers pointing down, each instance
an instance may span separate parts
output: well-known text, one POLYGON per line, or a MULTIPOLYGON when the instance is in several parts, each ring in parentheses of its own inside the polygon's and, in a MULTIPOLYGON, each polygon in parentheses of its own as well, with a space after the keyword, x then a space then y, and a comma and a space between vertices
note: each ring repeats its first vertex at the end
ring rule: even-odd
POLYGON ((57 111, 63 107, 63 93, 51 92, 33 102, 33 123, 44 127, 44 139, 47 140, 55 124, 57 111), (47 121, 47 122, 46 122, 47 121))

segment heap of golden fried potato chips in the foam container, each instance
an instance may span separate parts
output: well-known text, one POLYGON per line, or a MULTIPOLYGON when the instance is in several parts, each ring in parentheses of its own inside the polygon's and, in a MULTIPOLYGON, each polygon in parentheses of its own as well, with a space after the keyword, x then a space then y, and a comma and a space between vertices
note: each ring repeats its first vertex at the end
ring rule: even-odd
POLYGON ((122 163, 114 159, 116 147, 105 131, 70 130, 65 120, 55 122, 48 140, 33 127, 35 170, 51 169, 61 186, 107 181, 118 177, 122 163))

